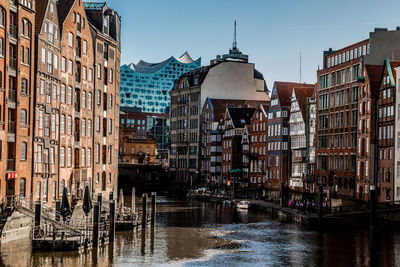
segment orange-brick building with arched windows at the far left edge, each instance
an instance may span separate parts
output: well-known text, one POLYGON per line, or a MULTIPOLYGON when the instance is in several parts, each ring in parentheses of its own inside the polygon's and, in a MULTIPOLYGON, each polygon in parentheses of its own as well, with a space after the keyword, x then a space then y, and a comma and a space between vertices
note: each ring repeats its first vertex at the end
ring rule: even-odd
POLYGON ((35 2, 0 4, 0 195, 29 196, 32 178, 35 2))

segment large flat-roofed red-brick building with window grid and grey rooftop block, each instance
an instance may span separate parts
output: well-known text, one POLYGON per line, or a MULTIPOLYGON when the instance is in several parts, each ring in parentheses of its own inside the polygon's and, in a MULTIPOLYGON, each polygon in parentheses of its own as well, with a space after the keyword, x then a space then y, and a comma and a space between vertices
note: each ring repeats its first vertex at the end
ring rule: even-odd
POLYGON ((369 39, 324 51, 317 72, 314 182, 330 196, 368 200, 377 70, 385 58, 400 56, 399 42, 399 30, 375 29, 369 39))

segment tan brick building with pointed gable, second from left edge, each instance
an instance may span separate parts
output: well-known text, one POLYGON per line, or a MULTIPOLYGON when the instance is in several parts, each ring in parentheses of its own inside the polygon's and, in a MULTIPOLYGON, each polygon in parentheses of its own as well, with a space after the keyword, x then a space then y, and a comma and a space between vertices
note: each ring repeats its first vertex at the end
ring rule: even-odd
POLYGON ((51 205, 59 188, 61 43, 56 1, 36 1, 36 90, 33 97, 33 175, 35 200, 51 205))

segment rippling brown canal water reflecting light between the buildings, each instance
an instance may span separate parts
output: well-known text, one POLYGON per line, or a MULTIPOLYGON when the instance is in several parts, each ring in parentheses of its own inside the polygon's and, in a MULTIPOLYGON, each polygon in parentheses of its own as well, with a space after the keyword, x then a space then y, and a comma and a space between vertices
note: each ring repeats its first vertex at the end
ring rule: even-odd
POLYGON ((28 240, 3 244, 0 266, 400 264, 398 232, 382 229, 374 241, 371 248, 368 229, 306 229, 223 204, 159 197, 154 229, 117 232, 113 245, 85 254, 31 253, 28 240))

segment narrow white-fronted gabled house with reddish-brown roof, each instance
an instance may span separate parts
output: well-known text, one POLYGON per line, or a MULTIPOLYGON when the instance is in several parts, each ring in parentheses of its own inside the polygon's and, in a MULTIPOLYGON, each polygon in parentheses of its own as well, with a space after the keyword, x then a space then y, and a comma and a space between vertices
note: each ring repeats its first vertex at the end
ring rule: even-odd
POLYGON ((295 192, 313 192, 310 187, 315 163, 314 132, 316 103, 314 86, 292 89, 289 135, 291 173, 289 188, 295 192))

